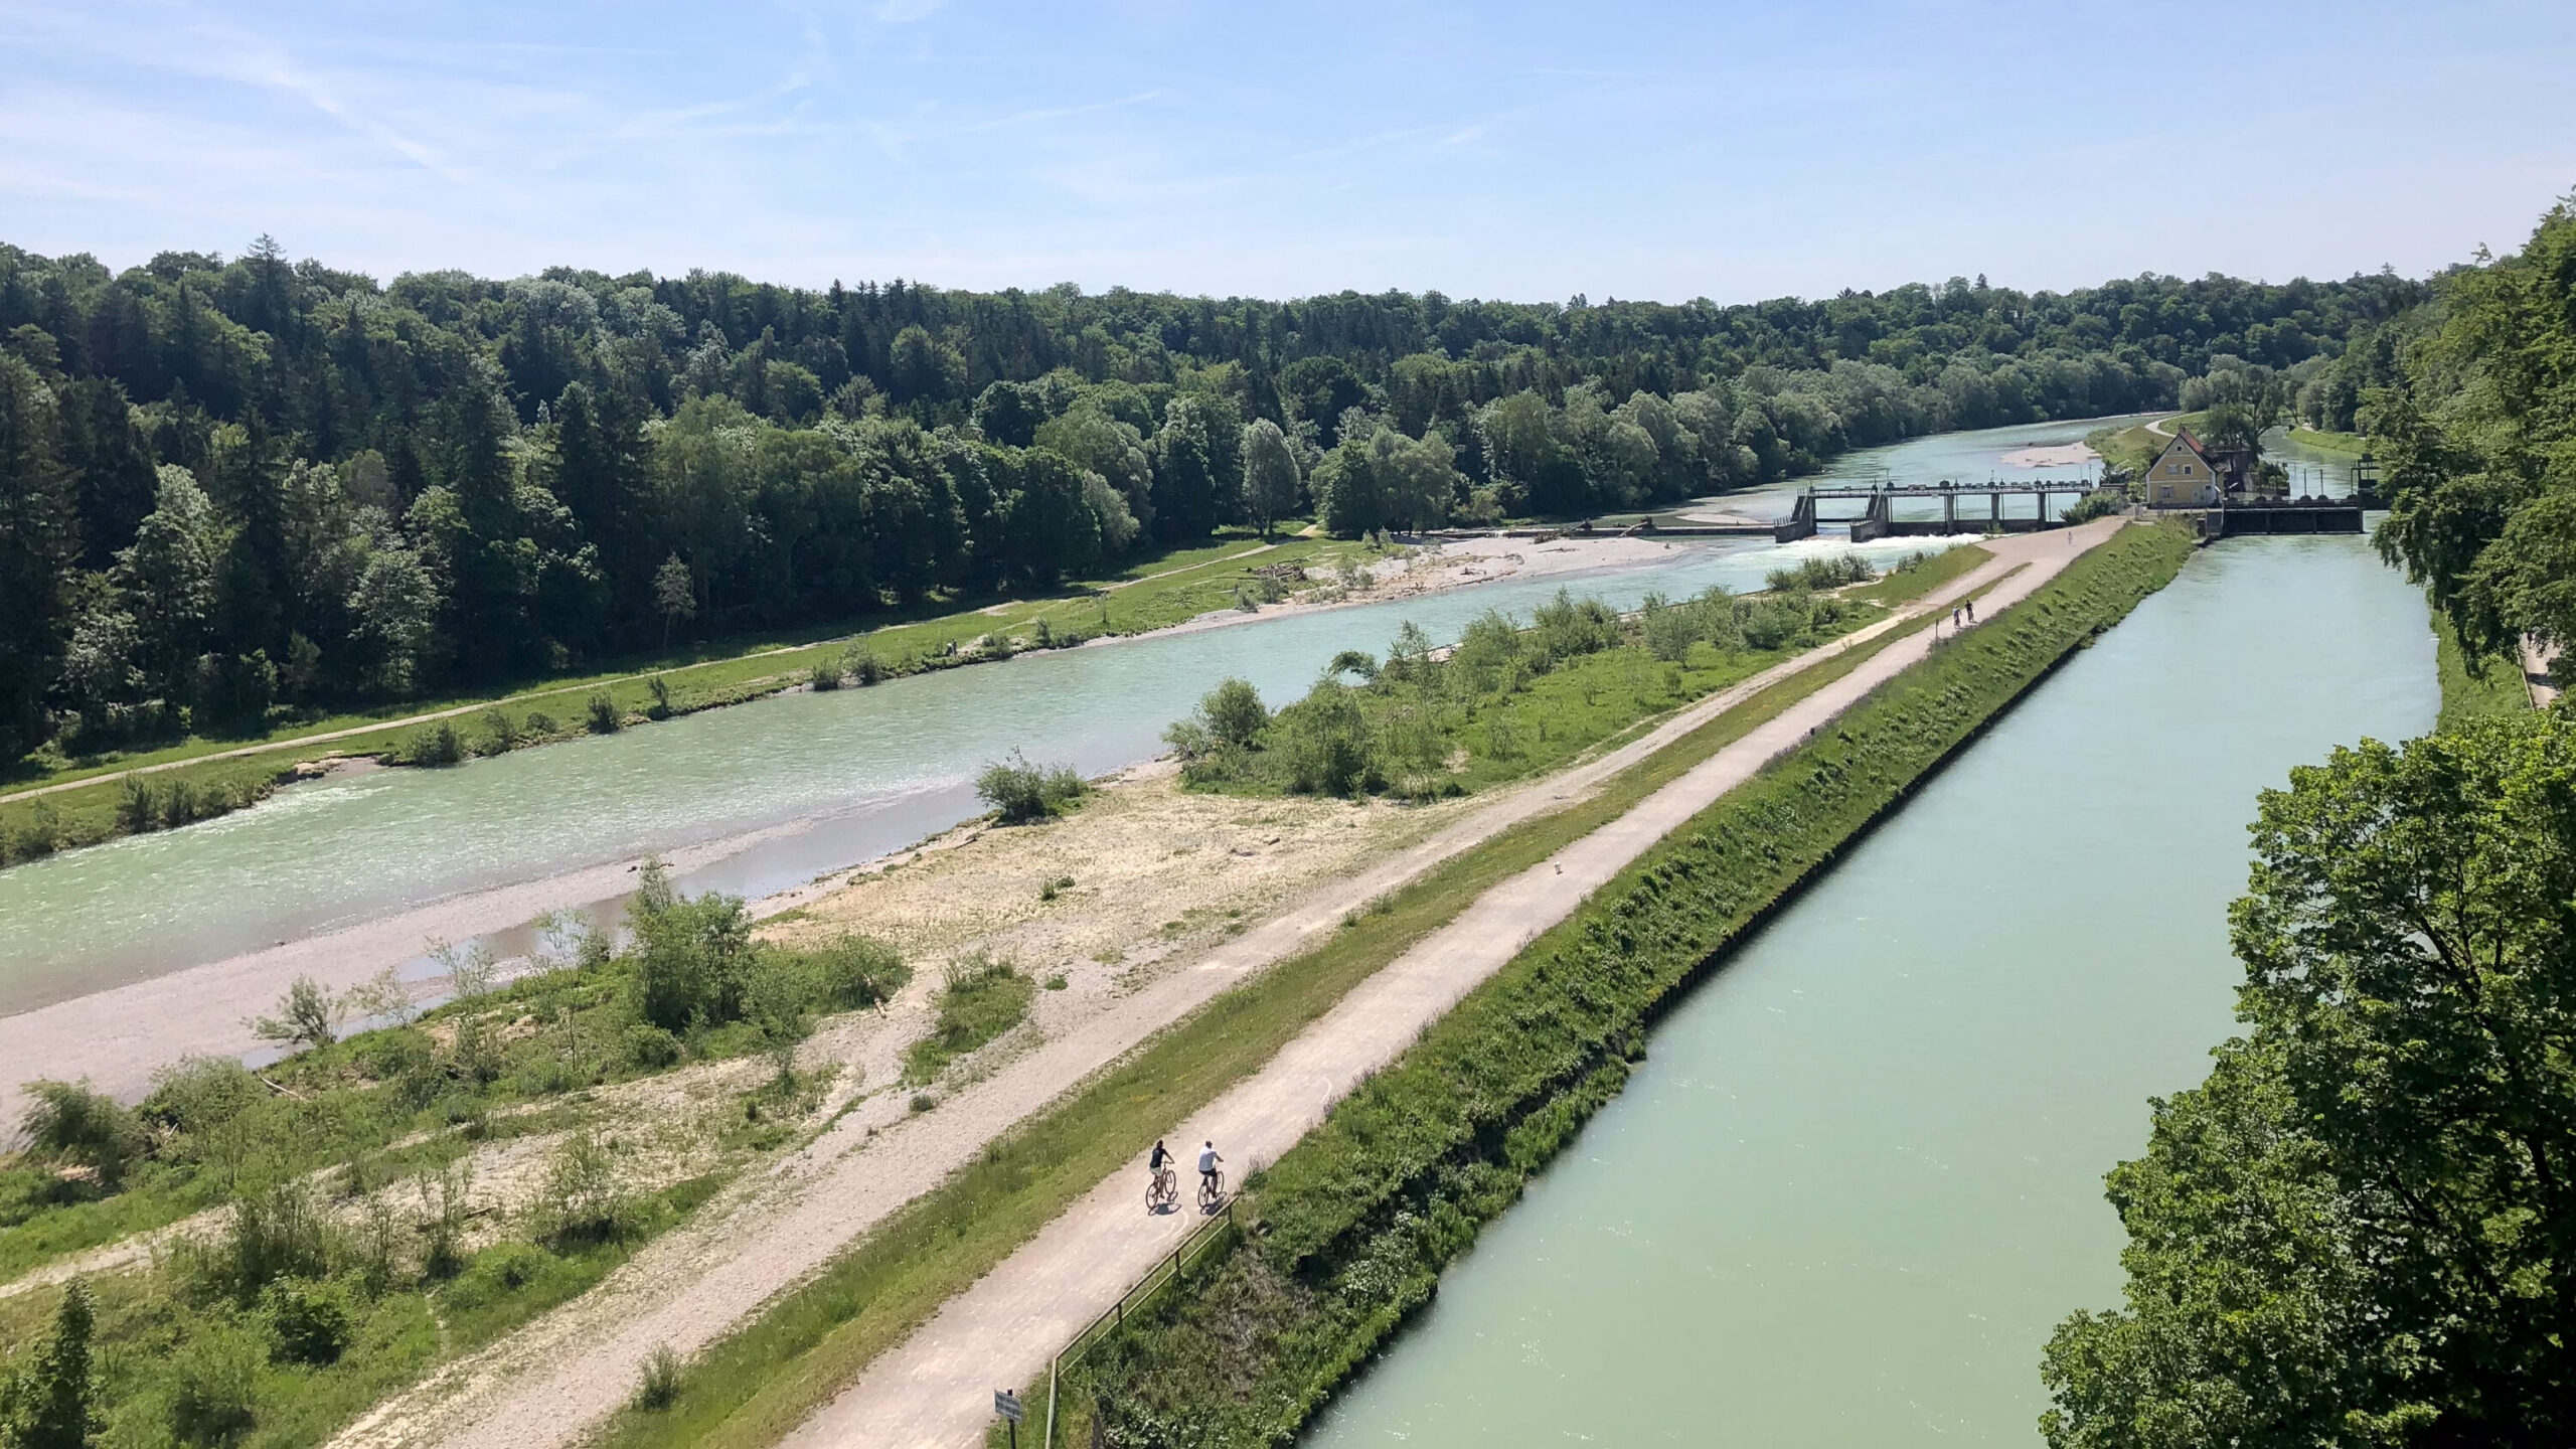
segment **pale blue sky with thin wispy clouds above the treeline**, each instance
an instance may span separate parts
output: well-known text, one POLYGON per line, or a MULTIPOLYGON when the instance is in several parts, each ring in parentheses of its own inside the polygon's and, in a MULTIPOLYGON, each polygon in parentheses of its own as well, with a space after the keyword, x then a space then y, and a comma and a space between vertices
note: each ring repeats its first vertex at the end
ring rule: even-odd
POLYGON ((2568 0, 0 0, 0 240, 1525 302, 2421 276, 2576 188, 2571 77, 2568 0))

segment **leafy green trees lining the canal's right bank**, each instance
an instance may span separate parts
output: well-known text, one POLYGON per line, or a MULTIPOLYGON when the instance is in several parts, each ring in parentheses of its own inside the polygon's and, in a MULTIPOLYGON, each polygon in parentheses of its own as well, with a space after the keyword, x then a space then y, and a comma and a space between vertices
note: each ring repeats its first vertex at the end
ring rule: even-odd
POLYGON ((2244 1034, 2110 1173, 2125 1305, 2050 1338, 2053 1449, 2576 1439, 2576 722, 2519 681, 2576 637, 2576 204, 2324 382, 2388 464, 2442 722, 2262 794, 2244 1034))

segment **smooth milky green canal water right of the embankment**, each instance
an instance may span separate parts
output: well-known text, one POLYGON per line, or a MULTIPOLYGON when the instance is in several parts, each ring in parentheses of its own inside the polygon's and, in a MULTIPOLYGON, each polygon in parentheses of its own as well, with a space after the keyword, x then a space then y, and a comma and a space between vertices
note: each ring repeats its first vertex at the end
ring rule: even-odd
POLYGON ((2290 766, 2437 712, 2365 539, 2233 539, 2076 655, 1674 1011, 1311 1444, 2038 1444, 2120 1302, 2102 1173, 2231 1034, 2290 766))

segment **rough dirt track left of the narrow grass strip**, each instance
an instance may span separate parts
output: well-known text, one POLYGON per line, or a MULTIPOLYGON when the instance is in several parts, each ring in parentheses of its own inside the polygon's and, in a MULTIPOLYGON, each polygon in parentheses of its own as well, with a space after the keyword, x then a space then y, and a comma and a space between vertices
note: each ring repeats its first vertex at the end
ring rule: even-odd
MULTIPOLYGON (((889 1212, 938 1186, 1015 1122, 1056 1101, 1247 975, 1296 954, 1314 936, 1334 931, 1350 910, 1520 820, 1558 810, 1592 792, 1759 688, 1862 645, 1904 619, 1935 608, 1947 611, 1955 598, 2009 575, 2032 557, 2048 557, 2038 547, 2043 541, 2056 544, 2058 554, 2074 557, 2074 549, 2058 544, 2053 534, 1986 544, 2004 557, 1880 624, 1772 665, 1682 709, 1618 750, 1499 794, 1422 843, 1350 879, 1314 890, 1296 908, 1218 944, 1195 962, 1180 964, 1110 1008, 1023 1044, 1015 1057, 956 1088, 935 1111, 909 1114, 902 1091, 878 1085, 894 1080, 904 1031, 876 1034, 866 1049, 853 1052, 850 1062, 873 1091, 866 1091, 817 1142, 708 1204, 693 1225, 639 1253, 590 1294, 448 1366, 428 1385, 379 1405, 335 1444, 345 1449, 415 1444, 549 1449, 569 1444, 629 1397, 636 1366, 654 1346, 667 1343, 680 1354, 703 1348, 757 1312, 773 1294, 822 1269, 889 1212)), ((1904 652, 1904 645, 1891 652, 1904 652)), ((1870 673, 1873 665, 1855 673, 1870 673)), ((1847 683, 1829 686, 1829 694, 1847 683)), ((1229 1134, 1239 1137, 1239 1132, 1229 1134)), ((1118 1263, 1123 1261, 1118 1258, 1118 1263)), ((1123 1269, 1110 1271, 1123 1274, 1123 1269)), ((1113 1294, 1115 1287, 1108 1292, 1113 1294)), ((1056 1297, 1048 1294, 1051 1312, 1056 1297)), ((1064 1297, 1061 1302, 1087 1299, 1064 1297)), ((1072 1307, 1064 1310, 1072 1312, 1072 1307)), ((1018 1354, 1012 1361, 1043 1361, 1043 1354, 1054 1348, 1046 1333, 1051 1330, 1030 1336, 1028 1346, 1012 1338, 1012 1354, 1018 1354)), ((925 1338, 930 1336, 925 1333, 925 1338)), ((971 1369, 976 1382, 999 1369, 987 1359, 979 1364, 984 1366, 971 1369)), ((969 1372, 969 1366, 961 1364, 958 1372, 969 1372)), ((1020 1372, 1025 1377, 1025 1369, 1020 1372)), ((994 1382, 1012 1379, 999 1374, 994 1382)), ((981 1392, 989 1392, 989 1385, 981 1392)), ((925 1403, 943 1400, 930 1395, 925 1403)), ((984 1405, 989 1408, 989 1397, 984 1405)), ((958 1434, 945 1434, 945 1439, 958 1439, 958 1434)), ((868 1436, 845 1441, 876 1444, 868 1436)))

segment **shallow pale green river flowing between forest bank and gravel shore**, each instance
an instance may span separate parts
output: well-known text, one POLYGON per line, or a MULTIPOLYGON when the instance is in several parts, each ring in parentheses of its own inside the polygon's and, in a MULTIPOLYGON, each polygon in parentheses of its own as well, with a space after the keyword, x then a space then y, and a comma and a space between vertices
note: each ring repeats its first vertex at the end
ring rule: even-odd
MULTIPOLYGON (((1984 477, 2025 443, 2074 441, 2092 425, 1917 438, 1847 454, 1834 477, 1984 477)), ((1795 485, 1728 503, 1785 516, 1790 492, 1795 485)), ((1847 547, 1680 544, 1638 567, 1023 655, 878 688, 788 694, 448 771, 294 786, 222 820, 0 871, 0 1016, 647 851, 719 856, 683 874, 683 890, 765 895, 974 815, 974 771, 1015 748, 1084 771, 1149 758, 1162 727, 1229 673, 1278 704, 1334 652, 1383 647, 1404 619, 1445 639, 1484 608, 1528 614, 1558 588, 1633 606, 1649 590, 1759 588, 1785 559, 1847 547)), ((1917 547, 1927 541, 1862 552, 1917 547)), ((417 949, 402 944, 402 954, 417 949)))

